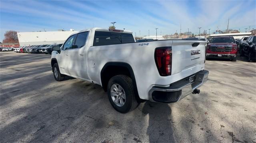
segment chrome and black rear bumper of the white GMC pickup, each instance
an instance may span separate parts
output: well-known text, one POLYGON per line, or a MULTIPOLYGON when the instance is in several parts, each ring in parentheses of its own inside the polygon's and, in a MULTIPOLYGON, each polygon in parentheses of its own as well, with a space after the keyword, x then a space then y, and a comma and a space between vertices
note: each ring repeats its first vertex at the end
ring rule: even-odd
POLYGON ((208 74, 209 71, 203 70, 174 82, 169 87, 153 86, 149 91, 149 100, 163 103, 178 102, 202 86, 208 80, 208 74), (193 83, 188 80, 191 76, 195 76, 193 83))

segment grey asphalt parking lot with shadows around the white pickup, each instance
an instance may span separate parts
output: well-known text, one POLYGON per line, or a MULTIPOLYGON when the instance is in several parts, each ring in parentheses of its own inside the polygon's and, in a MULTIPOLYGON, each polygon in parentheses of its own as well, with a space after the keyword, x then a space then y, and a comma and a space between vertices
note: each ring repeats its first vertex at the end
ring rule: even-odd
POLYGON ((256 63, 206 61, 180 102, 116 112, 100 86, 54 80, 50 55, 0 52, 0 142, 256 143, 256 63))

